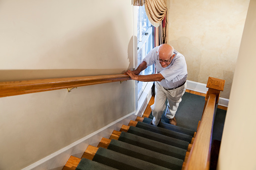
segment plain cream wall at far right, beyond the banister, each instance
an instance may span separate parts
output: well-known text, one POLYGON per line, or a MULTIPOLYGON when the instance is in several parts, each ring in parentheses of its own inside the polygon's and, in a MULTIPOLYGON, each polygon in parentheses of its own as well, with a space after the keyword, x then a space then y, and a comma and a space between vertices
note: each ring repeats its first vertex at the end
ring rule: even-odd
POLYGON ((251 0, 235 67, 217 169, 256 169, 256 1, 251 0))

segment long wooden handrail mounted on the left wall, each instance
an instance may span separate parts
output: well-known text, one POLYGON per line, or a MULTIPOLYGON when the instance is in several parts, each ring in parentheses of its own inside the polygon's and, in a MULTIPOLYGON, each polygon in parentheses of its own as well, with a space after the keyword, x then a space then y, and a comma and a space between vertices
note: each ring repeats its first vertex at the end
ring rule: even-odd
POLYGON ((0 97, 131 80, 125 74, 0 82, 0 97))

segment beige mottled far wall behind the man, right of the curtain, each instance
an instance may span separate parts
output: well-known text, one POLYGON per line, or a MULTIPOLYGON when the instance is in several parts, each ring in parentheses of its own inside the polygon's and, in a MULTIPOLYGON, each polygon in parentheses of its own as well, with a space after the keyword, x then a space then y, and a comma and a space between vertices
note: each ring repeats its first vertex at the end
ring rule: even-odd
POLYGON ((188 80, 226 80, 220 97, 229 98, 249 0, 167 1, 168 44, 187 61, 188 80))

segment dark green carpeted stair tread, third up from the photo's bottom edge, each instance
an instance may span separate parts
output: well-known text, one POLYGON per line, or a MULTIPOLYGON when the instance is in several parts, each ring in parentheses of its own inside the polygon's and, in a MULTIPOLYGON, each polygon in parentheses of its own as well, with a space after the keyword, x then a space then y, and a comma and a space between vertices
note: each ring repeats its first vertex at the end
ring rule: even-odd
POLYGON ((108 149, 173 170, 180 170, 183 165, 183 160, 181 159, 125 143, 120 140, 111 140, 108 149))

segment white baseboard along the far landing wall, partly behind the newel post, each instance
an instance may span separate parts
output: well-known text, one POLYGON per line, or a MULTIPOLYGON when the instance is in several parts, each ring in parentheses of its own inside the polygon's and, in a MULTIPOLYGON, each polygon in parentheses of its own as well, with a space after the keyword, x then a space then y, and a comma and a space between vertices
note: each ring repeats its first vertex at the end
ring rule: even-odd
MULTIPOLYGON (((206 94, 207 91, 208 91, 208 88, 206 87, 206 84, 198 83, 198 82, 194 82, 194 81, 190 81, 190 80, 187 80, 187 89, 188 90, 193 90, 193 91, 196 91, 196 92, 200 92, 200 93, 204 93, 204 94, 206 94)), ((229 102, 229 99, 225 99, 225 98, 220 97, 218 105, 227 107, 228 102, 229 102)))

